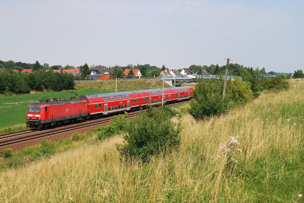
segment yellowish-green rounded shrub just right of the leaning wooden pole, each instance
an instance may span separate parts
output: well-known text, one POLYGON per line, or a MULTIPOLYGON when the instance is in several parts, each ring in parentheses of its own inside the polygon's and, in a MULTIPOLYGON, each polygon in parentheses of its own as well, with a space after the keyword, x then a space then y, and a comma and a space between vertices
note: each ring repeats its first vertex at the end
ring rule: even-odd
POLYGON ((250 86, 239 78, 230 82, 227 89, 230 91, 232 99, 238 103, 246 104, 254 98, 250 86))

